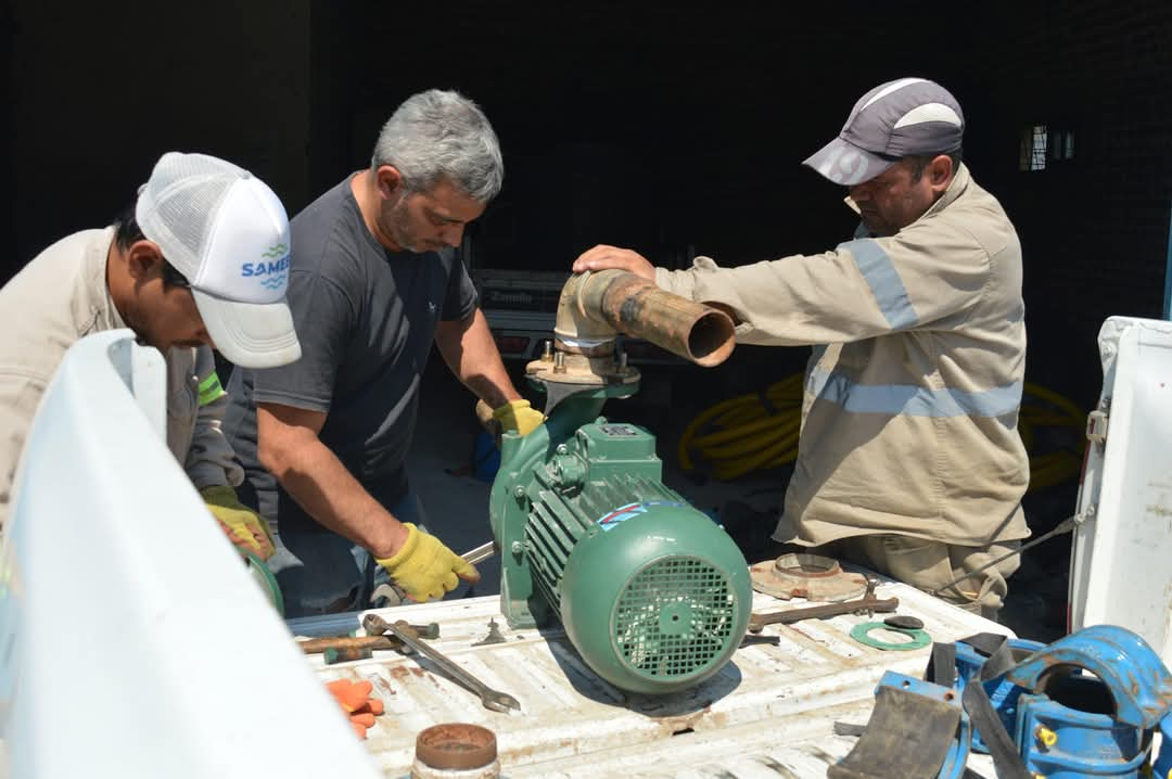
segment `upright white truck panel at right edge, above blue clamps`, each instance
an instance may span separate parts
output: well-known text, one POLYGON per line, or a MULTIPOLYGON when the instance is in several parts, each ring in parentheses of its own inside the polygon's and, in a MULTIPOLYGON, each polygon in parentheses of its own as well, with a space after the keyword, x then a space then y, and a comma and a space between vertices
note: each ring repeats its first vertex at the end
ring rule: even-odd
POLYGON ((1172 664, 1172 322, 1099 332, 1105 445, 1090 444, 1075 532, 1071 627, 1118 624, 1172 664))

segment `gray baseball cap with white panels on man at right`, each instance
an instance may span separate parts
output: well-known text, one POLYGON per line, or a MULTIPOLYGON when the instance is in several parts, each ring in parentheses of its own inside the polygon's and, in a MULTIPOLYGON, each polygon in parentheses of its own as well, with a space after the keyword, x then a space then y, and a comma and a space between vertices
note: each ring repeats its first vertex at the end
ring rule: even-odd
POLYGON ((838 137, 802 164, 853 186, 904 157, 956 151, 963 135, 965 115, 947 89, 927 78, 898 78, 860 97, 838 137))

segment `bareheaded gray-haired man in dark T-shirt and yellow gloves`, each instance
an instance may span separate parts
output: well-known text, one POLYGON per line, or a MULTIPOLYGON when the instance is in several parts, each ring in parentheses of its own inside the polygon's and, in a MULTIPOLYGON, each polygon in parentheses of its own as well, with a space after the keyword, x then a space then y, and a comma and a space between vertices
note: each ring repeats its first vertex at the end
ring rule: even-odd
POLYGON ((251 498, 277 521, 270 566, 288 616, 368 608, 388 578, 417 601, 479 578, 421 529, 404 459, 432 342, 505 430, 543 421, 509 380, 452 251, 503 178, 481 109, 430 90, 390 117, 368 170, 291 223, 301 358, 234 371, 225 423, 251 498))

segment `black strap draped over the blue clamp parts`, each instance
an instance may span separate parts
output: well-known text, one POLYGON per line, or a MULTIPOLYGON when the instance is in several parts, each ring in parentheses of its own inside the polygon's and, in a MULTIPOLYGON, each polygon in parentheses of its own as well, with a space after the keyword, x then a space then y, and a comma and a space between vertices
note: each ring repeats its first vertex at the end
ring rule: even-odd
MULTIPOLYGON (((999 779, 1031 779, 1026 764, 1017 753, 1001 717, 997 716, 984 691, 983 682, 1003 676, 1015 664, 1008 640, 995 633, 979 633, 956 643, 966 643, 986 660, 976 676, 965 684, 961 705, 968 712, 973 727, 981 733, 984 745, 993 757, 999 779)), ((924 678, 942 686, 954 686, 956 682, 956 644, 935 643, 924 678)))

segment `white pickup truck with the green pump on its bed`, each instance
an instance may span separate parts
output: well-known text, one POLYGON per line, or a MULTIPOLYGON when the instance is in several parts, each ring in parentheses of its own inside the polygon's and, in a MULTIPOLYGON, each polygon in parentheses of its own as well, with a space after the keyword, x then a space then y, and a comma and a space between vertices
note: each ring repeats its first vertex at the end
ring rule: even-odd
MULTIPOLYGON (((1101 350, 1072 627, 1129 627, 1168 663, 1172 323, 1112 317, 1101 350)), ((834 723, 866 723, 886 671, 926 664, 927 649, 861 645, 850 631, 866 617, 845 615, 766 627, 702 684, 636 695, 594 675, 563 631, 510 629, 486 595, 374 613, 437 623, 434 644, 519 711, 485 709, 414 655, 325 665, 294 636, 360 633, 363 614, 280 619, 165 447, 164 383, 157 351, 101 333, 42 402, 0 553, 0 775, 396 778, 420 731, 464 722, 495 732, 512 778, 823 777, 854 743, 834 723), (326 692, 338 678, 370 681, 384 702, 364 742, 326 692)), ((877 594, 938 642, 1007 633, 906 585, 877 594)), ((995 775, 987 760, 969 771, 995 775)))

